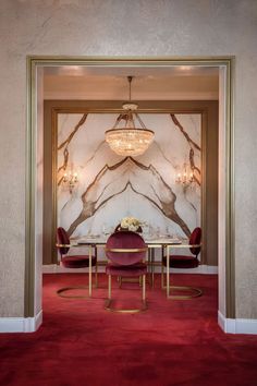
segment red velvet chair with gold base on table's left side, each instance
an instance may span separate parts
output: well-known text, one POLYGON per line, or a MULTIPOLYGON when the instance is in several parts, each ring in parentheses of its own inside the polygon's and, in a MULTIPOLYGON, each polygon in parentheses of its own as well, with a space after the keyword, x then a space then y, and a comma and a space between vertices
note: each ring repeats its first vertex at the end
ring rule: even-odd
MULTIPOLYGON (((70 238, 65 229, 59 227, 57 229, 57 248, 61 255, 62 266, 65 268, 88 268, 89 267, 89 255, 72 254, 69 255, 68 252, 71 248, 70 238)), ((91 256, 91 266, 95 266, 95 282, 97 287, 97 248, 94 249, 94 255, 91 256)), ((57 293, 62 298, 87 298, 84 295, 69 295, 64 292, 76 289, 88 289, 88 287, 65 287, 57 291, 57 293)))

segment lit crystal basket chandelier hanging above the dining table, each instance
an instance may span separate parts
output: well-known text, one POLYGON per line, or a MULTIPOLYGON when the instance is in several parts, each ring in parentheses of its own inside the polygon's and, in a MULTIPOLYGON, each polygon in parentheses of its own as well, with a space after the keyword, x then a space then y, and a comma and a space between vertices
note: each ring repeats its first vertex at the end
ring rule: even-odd
POLYGON ((130 101, 122 106, 124 112, 119 114, 114 126, 106 131, 106 142, 119 156, 136 157, 147 150, 155 133, 152 130, 146 129, 136 112, 138 106, 131 102, 132 76, 127 76, 127 81, 130 84, 130 101))

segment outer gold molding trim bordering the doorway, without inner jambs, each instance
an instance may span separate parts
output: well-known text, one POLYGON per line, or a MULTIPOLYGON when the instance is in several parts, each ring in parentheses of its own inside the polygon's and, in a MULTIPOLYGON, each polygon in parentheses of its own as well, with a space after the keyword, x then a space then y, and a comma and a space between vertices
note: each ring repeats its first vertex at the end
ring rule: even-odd
POLYGON ((37 69, 51 65, 174 67, 225 69, 225 317, 235 317, 234 262, 234 57, 27 57, 26 231, 24 316, 35 314, 35 190, 37 130, 37 69))

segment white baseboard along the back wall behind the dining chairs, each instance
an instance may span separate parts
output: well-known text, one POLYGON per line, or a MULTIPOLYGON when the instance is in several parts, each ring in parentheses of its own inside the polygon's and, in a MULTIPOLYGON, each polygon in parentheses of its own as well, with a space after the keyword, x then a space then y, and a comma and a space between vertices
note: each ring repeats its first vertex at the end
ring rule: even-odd
MULTIPOLYGON (((42 274, 68 274, 68 273, 87 273, 87 268, 79 268, 79 269, 72 269, 72 268, 64 268, 58 264, 50 264, 50 265, 42 265, 42 274)), ((99 273, 105 273, 105 266, 100 265, 98 267, 99 273)), ((161 267, 155 267, 156 274, 161 273, 161 267)), ((199 265, 197 268, 193 269, 176 269, 172 268, 172 274, 203 274, 203 275, 218 275, 218 267, 210 266, 210 265, 199 265)))

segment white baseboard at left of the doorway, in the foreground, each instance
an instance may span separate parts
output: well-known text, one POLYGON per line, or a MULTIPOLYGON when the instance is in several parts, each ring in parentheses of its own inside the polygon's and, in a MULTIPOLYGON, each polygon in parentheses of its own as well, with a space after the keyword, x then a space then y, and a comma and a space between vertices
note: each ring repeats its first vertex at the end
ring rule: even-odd
POLYGON ((42 323, 42 311, 34 317, 0 317, 0 333, 35 333, 42 323))

